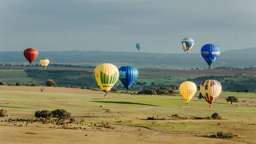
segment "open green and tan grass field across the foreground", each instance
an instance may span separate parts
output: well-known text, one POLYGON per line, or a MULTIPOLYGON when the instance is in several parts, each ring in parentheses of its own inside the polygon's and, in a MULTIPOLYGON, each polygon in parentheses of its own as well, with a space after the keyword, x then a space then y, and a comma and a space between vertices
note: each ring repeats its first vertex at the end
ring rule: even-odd
MULTIPOLYGON (((18 127, 0 123, 1 143, 253 143, 256 142, 256 94, 222 92, 209 108, 196 96, 186 105, 183 97, 131 96, 101 91, 60 87, 0 86, 0 109, 7 109, 11 118, 34 117, 37 110, 66 109, 77 120, 85 119, 80 130, 61 129, 55 124, 27 124, 18 127), (225 98, 236 96, 238 103, 225 98), (7 104, 11 103, 11 104, 7 104), (104 107, 100 107, 104 106, 104 107), (147 117, 168 118, 211 116, 217 112, 223 120, 145 120, 147 117), (90 118, 91 116, 91 118, 90 118), (91 123, 110 123, 114 129, 96 129, 91 123), (156 122, 156 123, 155 123, 156 122), (243 123, 242 123, 243 122, 243 123), (217 125, 220 123, 221 125, 217 125), (56 128, 49 128, 56 126, 56 128), (57 129, 59 128, 59 129, 57 129), (139 130, 140 129, 140 130, 139 130), (233 139, 204 138, 218 131, 240 134, 233 139), (26 134, 27 132, 36 134, 26 134), (85 136, 85 135, 89 136, 85 136), (31 139, 33 138, 33 139, 31 139)), ((5 118, 0 118, 5 120, 5 118)), ((19 124, 18 124, 19 125, 19 124)))

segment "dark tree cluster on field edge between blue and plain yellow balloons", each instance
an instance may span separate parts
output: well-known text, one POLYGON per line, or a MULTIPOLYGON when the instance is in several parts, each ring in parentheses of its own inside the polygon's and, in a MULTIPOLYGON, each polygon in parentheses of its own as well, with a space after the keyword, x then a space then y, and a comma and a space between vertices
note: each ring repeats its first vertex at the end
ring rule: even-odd
POLYGON ((170 87, 160 87, 160 88, 151 88, 143 89, 137 93, 137 95, 161 95, 161 96, 176 96, 174 89, 170 87))

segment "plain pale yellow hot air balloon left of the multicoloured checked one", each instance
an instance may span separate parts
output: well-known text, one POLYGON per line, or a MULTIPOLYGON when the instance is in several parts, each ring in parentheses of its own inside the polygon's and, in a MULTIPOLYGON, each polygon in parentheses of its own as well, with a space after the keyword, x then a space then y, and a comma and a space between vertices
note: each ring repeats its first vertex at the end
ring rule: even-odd
POLYGON ((181 95, 187 101, 187 104, 188 104, 188 101, 190 101, 191 98, 196 94, 197 86, 193 82, 188 82, 188 81, 183 82, 180 85, 180 92, 181 92, 181 95))

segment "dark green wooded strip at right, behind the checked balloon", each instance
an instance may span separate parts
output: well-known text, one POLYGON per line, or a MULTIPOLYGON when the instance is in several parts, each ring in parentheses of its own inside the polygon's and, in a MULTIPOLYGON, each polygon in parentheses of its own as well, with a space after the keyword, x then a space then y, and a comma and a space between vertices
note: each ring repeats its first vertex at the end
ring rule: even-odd
MULTIPOLYGON (((256 80, 237 80, 238 76, 201 76, 197 78, 188 78, 187 81, 194 82, 196 85, 200 85, 205 80, 216 80, 221 83, 222 90, 224 91, 233 91, 233 92, 241 92, 241 91, 256 91, 256 80), (229 78, 227 80, 226 78, 229 78), (230 78, 234 78, 233 80, 230 78)), ((245 77, 244 77, 245 78, 245 77)))

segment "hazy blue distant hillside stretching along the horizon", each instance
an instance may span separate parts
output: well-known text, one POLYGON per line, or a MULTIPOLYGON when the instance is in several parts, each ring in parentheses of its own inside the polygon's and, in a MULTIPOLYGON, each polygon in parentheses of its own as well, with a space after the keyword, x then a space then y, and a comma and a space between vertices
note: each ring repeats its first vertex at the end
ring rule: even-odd
MULTIPOLYGON (((234 68, 256 66, 256 47, 221 52, 214 67, 231 66, 234 68)), ((201 54, 159 54, 103 51, 63 51, 39 52, 34 64, 40 64, 41 58, 50 63, 73 64, 79 66, 97 66, 100 63, 113 63, 117 67, 131 65, 137 68, 191 69, 207 68, 201 54)), ((28 62, 23 52, 0 52, 0 64, 25 64, 28 62)))

